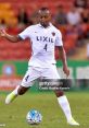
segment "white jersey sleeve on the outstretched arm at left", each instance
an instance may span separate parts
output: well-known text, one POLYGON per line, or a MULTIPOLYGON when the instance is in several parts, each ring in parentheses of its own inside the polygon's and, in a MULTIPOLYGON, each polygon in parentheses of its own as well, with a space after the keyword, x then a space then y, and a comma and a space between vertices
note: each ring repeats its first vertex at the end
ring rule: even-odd
POLYGON ((30 37, 30 33, 31 33, 30 27, 27 27, 27 28, 24 30, 22 33, 20 33, 18 36, 20 36, 22 39, 26 39, 26 38, 29 38, 29 37, 30 37))

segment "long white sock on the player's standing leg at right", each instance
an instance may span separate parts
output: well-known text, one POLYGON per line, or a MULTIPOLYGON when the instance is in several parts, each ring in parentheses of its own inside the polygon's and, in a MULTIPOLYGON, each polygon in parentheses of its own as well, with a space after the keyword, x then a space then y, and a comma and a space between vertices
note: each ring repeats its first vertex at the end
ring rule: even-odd
POLYGON ((65 95, 58 97, 58 102, 61 105, 61 108, 64 112, 66 119, 69 120, 72 118, 72 112, 67 97, 65 95))

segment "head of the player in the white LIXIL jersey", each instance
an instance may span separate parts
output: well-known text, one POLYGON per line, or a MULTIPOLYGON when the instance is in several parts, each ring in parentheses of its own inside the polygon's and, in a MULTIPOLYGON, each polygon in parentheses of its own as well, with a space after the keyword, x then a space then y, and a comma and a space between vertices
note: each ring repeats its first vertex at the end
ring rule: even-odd
POLYGON ((42 26, 47 27, 51 20, 51 13, 48 8, 41 8, 38 12, 39 14, 39 22, 42 26))

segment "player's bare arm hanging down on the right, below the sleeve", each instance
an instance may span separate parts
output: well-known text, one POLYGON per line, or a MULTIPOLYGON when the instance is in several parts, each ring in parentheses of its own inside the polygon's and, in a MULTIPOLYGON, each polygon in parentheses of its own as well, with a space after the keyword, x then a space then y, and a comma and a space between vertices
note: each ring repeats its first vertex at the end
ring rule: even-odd
POLYGON ((67 61, 66 61, 66 53, 63 46, 59 46, 59 51, 60 51, 60 57, 63 62, 63 71, 64 73, 68 77, 69 75, 69 70, 67 67, 67 61))

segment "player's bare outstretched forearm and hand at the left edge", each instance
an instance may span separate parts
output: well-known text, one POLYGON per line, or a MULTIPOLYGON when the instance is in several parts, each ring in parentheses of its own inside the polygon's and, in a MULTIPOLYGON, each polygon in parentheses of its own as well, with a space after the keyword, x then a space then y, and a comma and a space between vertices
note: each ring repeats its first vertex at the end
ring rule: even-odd
POLYGON ((17 43, 22 40, 18 35, 9 35, 4 30, 0 30, 0 36, 7 38, 11 43, 17 43))

